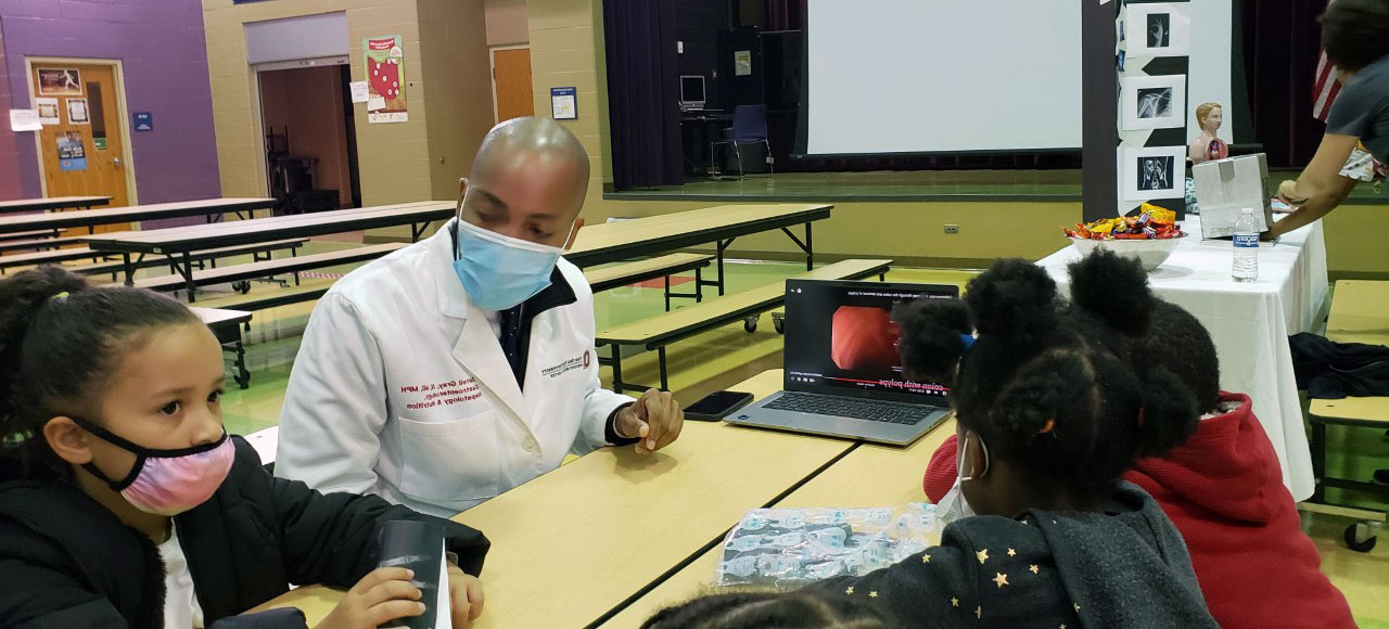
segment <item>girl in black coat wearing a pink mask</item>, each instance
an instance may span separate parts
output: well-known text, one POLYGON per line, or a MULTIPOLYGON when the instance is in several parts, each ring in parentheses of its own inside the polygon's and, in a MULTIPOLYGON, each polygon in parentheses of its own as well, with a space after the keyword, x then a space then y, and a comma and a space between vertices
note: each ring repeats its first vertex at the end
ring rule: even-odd
POLYGON ((304 626, 238 614, 289 583, 349 589, 324 626, 421 614, 379 568, 388 521, 444 530, 454 628, 482 611, 482 533, 272 478, 222 428, 221 346, 181 303, 56 267, 0 280, 0 625, 304 626))

